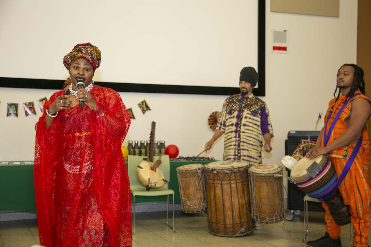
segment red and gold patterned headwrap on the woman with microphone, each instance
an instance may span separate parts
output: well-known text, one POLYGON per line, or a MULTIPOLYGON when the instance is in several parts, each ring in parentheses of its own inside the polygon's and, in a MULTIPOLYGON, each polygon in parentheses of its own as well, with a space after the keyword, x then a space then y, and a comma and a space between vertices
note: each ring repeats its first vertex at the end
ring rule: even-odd
POLYGON ((63 64, 66 69, 69 70, 72 61, 81 57, 85 58, 92 64, 94 71, 98 69, 99 65, 101 65, 101 51, 91 43, 76 44, 72 51, 63 58, 63 64))

